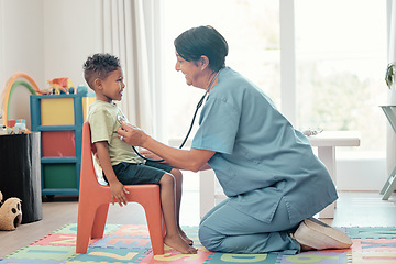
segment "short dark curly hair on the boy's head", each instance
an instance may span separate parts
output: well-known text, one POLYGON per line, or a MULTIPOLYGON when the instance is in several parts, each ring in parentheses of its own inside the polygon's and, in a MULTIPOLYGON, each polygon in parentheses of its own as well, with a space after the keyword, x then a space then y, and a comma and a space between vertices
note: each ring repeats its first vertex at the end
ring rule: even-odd
POLYGON ((111 72, 121 67, 118 57, 108 53, 97 53, 88 57, 84 64, 84 78, 91 89, 95 88, 94 80, 106 79, 111 72))

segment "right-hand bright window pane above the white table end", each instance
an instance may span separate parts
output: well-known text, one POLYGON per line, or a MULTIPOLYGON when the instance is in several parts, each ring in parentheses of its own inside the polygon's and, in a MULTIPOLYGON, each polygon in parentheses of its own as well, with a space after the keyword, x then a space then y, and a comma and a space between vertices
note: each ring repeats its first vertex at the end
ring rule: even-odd
POLYGON ((361 132, 340 151, 385 153, 385 14, 377 0, 295 2, 297 123, 361 132))

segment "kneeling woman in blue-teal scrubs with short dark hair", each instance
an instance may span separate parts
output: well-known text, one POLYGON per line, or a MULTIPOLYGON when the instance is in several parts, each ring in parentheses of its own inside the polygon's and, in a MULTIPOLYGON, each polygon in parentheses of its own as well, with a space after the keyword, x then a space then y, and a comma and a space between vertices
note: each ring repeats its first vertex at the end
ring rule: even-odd
POLYGON ((201 244, 246 254, 349 248, 346 234, 312 218, 338 198, 328 170, 273 101, 226 66, 224 37, 199 26, 174 44, 176 70, 208 91, 191 148, 162 144, 129 123, 118 133, 174 167, 215 170, 228 198, 201 220, 201 244))

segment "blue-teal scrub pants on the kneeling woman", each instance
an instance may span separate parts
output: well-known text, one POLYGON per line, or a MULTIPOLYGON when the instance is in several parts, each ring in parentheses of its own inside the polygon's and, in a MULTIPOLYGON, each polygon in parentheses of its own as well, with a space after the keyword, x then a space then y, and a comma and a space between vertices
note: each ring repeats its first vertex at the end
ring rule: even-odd
POLYGON ((290 223, 284 201, 272 222, 260 221, 228 205, 226 199, 213 207, 201 220, 199 240, 212 252, 257 254, 300 252, 299 243, 290 238, 298 223, 290 223))

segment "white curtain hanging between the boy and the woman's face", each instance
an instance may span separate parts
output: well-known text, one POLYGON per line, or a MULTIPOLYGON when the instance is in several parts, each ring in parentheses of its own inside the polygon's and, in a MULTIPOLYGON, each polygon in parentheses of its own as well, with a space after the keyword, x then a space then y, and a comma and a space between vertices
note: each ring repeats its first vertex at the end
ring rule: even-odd
POLYGON ((118 56, 127 88, 119 102, 129 121, 161 138, 158 0, 102 0, 103 52, 118 56))

